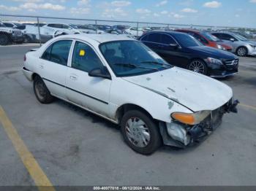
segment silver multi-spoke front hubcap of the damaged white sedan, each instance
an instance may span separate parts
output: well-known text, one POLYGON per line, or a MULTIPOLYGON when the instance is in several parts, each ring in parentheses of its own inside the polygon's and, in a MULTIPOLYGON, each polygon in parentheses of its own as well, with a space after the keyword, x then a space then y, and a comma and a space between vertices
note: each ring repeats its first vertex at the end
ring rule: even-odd
POLYGON ((146 147, 150 141, 150 133, 148 127, 143 120, 138 117, 132 117, 127 120, 125 125, 127 138, 136 147, 146 147))

